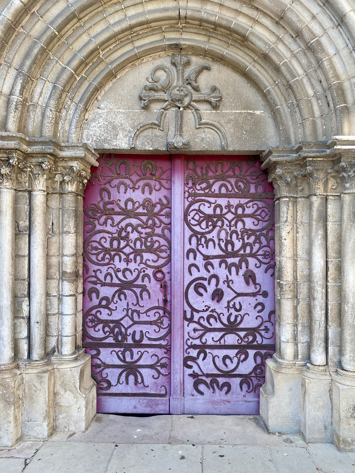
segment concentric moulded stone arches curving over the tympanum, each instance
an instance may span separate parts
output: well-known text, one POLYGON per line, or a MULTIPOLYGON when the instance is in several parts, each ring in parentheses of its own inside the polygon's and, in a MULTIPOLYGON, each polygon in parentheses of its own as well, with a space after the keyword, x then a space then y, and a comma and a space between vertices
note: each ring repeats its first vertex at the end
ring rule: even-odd
POLYGON ((0 16, 0 126, 80 140, 90 107, 124 68, 181 48, 245 75, 269 105, 278 144, 352 134, 354 15, 345 0, 11 1, 0 16))

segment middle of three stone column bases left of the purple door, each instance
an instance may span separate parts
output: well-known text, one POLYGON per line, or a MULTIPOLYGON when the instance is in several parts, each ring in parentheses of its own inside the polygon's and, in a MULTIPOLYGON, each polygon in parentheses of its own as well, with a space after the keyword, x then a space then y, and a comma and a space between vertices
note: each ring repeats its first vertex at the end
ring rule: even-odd
POLYGON ((22 405, 22 438, 49 438, 54 428, 54 371, 49 359, 26 363, 22 405))

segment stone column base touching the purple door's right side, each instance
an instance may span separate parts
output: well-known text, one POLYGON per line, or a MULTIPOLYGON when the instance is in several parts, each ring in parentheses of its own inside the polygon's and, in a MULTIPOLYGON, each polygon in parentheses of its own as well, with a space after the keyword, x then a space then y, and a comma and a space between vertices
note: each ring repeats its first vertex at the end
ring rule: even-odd
POLYGON ((269 432, 300 432, 301 371, 304 364, 266 360, 265 384, 260 388, 260 416, 269 432))

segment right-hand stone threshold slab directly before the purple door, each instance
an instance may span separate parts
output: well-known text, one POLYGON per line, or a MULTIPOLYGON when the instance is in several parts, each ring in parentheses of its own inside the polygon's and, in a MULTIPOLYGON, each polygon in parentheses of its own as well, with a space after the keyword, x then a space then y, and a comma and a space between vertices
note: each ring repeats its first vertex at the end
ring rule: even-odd
POLYGON ((305 446, 300 435, 269 434, 259 416, 173 416, 169 443, 305 446), (187 442, 188 440, 188 442, 187 442), (285 442, 286 440, 286 442, 285 442))

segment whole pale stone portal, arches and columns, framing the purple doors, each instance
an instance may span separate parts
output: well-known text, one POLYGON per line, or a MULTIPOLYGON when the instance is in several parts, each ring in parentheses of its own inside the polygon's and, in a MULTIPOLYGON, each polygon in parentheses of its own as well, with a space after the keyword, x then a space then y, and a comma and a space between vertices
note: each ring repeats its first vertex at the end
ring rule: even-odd
MULTIPOLYGON (((145 113, 137 71, 182 53, 220 78, 220 109, 201 113, 224 120, 223 153, 261 153, 275 186, 276 354, 260 414, 272 432, 355 450, 354 1, 12 0, 0 35, 0 444, 85 429, 95 415, 81 348, 93 148, 132 152, 145 113), (124 101, 127 87, 132 103, 102 111, 109 88, 124 101), (239 106, 250 87, 257 105, 239 106), (134 126, 105 133, 110 116, 134 126)), ((164 142, 142 134, 136 149, 164 142)))

